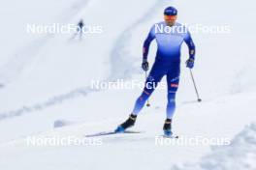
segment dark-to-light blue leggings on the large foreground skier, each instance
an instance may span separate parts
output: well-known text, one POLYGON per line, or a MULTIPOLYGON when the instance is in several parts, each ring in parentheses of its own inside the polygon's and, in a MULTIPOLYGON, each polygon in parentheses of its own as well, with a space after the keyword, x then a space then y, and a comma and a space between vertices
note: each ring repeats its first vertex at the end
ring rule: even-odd
POLYGON ((179 62, 172 65, 161 64, 155 62, 152 70, 145 81, 144 91, 142 95, 136 100, 133 114, 138 115, 144 107, 145 101, 150 97, 157 84, 161 81, 162 77, 166 75, 168 95, 167 95, 167 107, 166 116, 172 119, 176 110, 176 91, 179 81, 179 62))

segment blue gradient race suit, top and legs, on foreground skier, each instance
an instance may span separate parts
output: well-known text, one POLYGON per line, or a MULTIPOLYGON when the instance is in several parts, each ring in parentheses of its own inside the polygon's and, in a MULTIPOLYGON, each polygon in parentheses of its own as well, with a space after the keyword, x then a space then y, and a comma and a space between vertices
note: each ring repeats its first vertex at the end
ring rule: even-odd
POLYGON ((166 115, 172 119, 176 109, 176 91, 180 73, 180 48, 185 42, 189 48, 189 58, 195 59, 195 45, 185 26, 175 23, 167 26, 166 22, 154 24, 144 41, 144 60, 147 59, 149 45, 153 40, 157 42, 155 62, 149 72, 142 95, 136 100, 132 114, 138 115, 144 107, 145 101, 150 97, 162 77, 166 75, 168 86, 168 102, 166 115))

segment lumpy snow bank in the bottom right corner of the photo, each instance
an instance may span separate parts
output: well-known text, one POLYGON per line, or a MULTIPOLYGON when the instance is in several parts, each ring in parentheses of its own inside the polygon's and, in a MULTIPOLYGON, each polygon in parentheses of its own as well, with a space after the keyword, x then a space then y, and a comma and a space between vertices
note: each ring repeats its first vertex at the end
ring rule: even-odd
POLYGON ((215 147, 200 162, 175 166, 176 170, 203 169, 256 169, 255 123, 242 129, 230 146, 215 147))

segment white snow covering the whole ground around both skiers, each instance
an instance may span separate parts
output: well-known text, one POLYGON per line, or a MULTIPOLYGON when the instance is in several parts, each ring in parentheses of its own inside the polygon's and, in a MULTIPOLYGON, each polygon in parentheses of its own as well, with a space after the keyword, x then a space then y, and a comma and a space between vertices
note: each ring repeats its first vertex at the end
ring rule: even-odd
MULTIPOLYGON (((0 6, 0 169, 256 169, 256 23, 253 1, 10 0, 0 6), (83 138, 127 119, 141 89, 95 90, 92 79, 138 79, 142 44, 163 9, 178 21, 229 25, 230 34, 193 34, 193 70, 203 102, 195 102, 183 66, 174 131, 181 138, 232 139, 230 145, 156 145, 165 119, 166 90, 154 92, 135 130, 100 138, 95 146, 28 146, 28 137, 83 138), (27 23, 102 25, 103 34, 31 35, 27 23), (254 122, 254 123, 253 123, 254 122), (245 127, 245 128, 244 128, 245 127)), ((156 44, 151 44, 150 64, 156 44)), ((187 58, 182 48, 182 63, 187 58)), ((163 78, 164 81, 164 78, 163 78)))

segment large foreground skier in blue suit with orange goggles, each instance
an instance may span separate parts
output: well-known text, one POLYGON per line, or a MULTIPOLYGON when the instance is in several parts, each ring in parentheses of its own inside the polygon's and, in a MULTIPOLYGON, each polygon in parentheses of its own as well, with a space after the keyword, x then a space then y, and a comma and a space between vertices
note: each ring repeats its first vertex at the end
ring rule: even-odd
MULTIPOLYGON (((180 48, 182 42, 186 42, 189 48, 189 59, 186 61, 186 67, 192 69, 194 67, 195 60, 195 44, 192 41, 190 33, 187 29, 180 32, 177 27, 185 28, 180 23, 176 22, 177 11, 174 7, 168 7, 164 11, 165 21, 154 24, 147 38, 144 41, 143 51, 143 64, 144 71, 148 71, 147 54, 149 50, 150 42, 154 39, 157 42, 157 52, 155 62, 152 66, 149 75, 145 81, 145 87, 142 95, 136 100, 134 109, 129 118, 120 126, 115 129, 115 132, 123 132, 126 128, 131 128, 136 122, 137 115, 144 107, 145 101, 150 97, 158 82, 161 81, 164 75, 167 76, 168 85, 168 103, 166 108, 166 120, 164 123, 164 134, 172 136, 172 118, 176 110, 176 91, 179 82, 180 73, 180 48), (161 28, 171 28, 172 32, 168 32, 161 28)), ((180 30, 180 29, 179 29, 180 30)))

